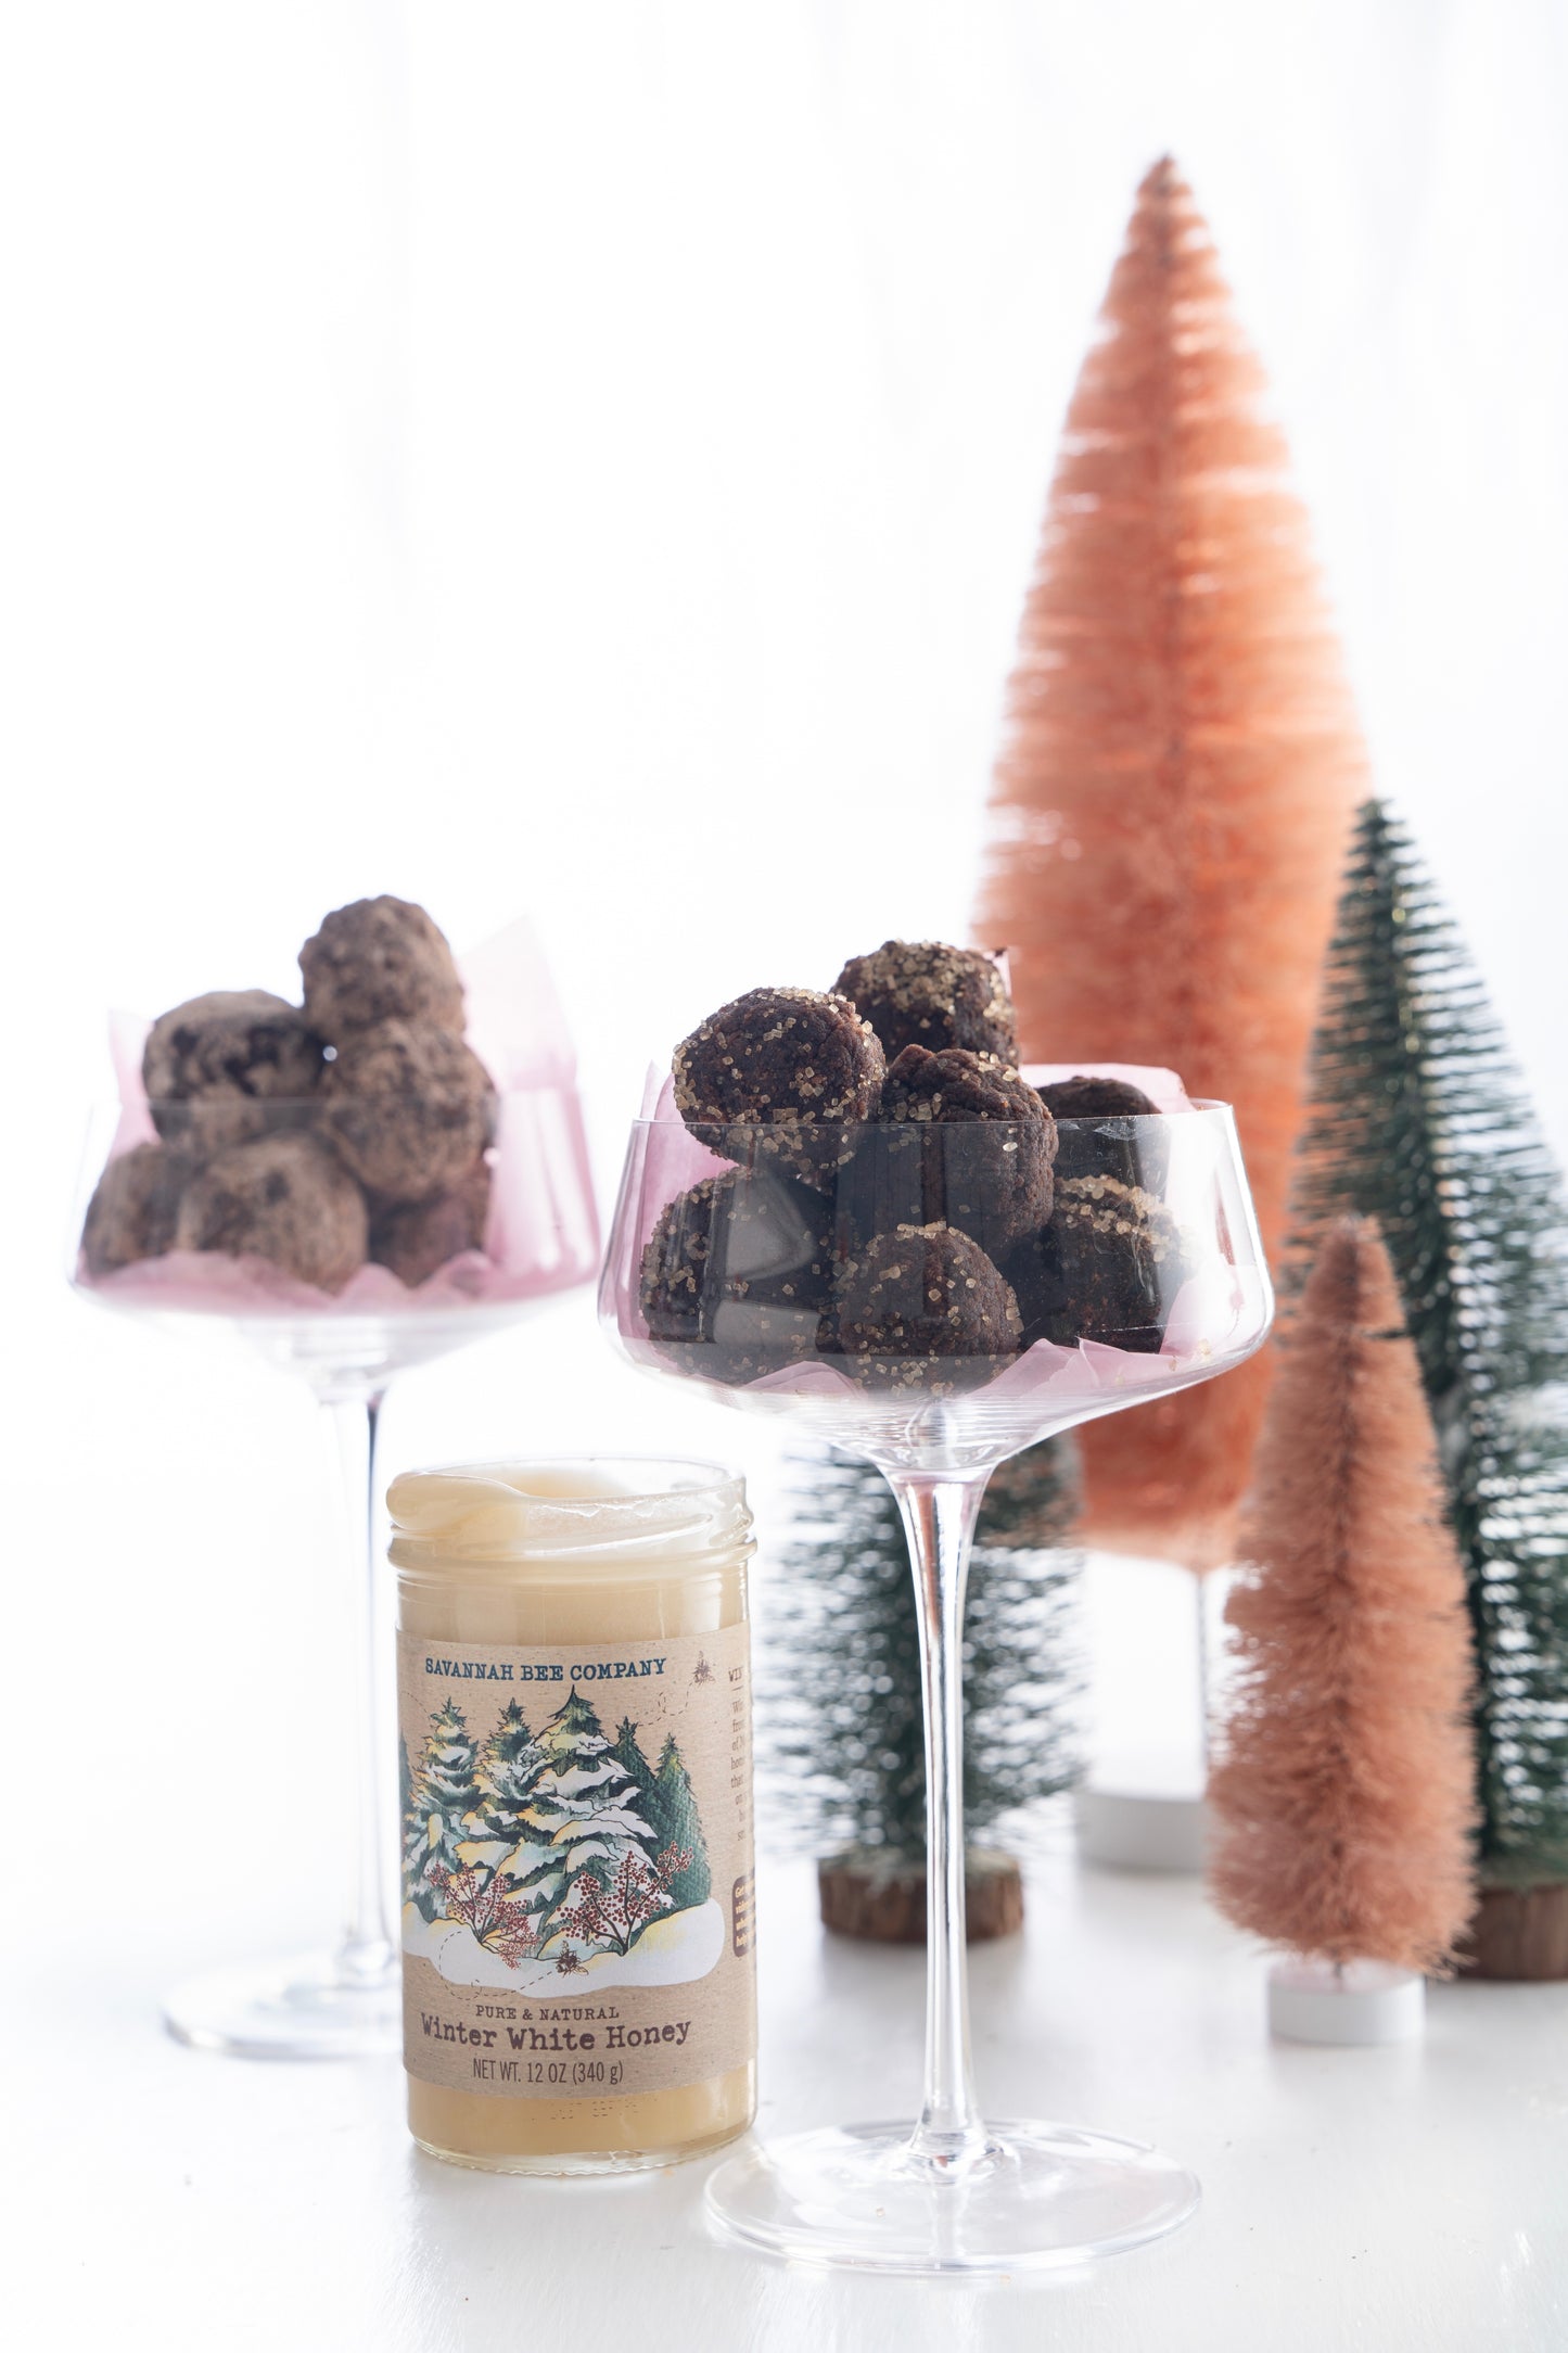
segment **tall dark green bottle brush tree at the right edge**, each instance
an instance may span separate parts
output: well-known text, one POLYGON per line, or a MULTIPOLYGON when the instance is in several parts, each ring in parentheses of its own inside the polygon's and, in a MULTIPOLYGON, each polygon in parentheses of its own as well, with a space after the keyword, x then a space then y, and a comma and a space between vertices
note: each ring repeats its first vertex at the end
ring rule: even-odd
POLYGON ((1389 1247, 1465 1562, 1469 1960, 1568 1977, 1568 1205, 1469 955, 1378 800, 1328 953, 1286 1294, 1345 1212, 1389 1247))

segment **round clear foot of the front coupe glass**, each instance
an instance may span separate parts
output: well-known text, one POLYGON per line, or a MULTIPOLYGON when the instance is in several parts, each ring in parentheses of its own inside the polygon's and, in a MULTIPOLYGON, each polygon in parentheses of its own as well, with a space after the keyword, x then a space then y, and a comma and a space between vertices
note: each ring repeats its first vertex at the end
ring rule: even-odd
POLYGON ((799 2132, 719 2165, 708 2219, 797 2264, 978 2275, 1091 2264, 1197 2212, 1197 2179, 1140 2141, 992 2125, 987 2144, 964 2177, 931 2179, 907 2125, 799 2132))

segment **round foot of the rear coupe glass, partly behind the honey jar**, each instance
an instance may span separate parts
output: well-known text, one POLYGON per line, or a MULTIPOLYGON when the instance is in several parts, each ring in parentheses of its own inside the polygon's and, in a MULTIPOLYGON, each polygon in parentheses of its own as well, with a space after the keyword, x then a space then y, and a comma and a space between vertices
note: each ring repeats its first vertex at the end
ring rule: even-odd
POLYGON ((397 1962, 348 1977, 322 1953, 188 1977, 165 2002, 179 2042, 230 2059, 378 2059, 402 2049, 397 1962))

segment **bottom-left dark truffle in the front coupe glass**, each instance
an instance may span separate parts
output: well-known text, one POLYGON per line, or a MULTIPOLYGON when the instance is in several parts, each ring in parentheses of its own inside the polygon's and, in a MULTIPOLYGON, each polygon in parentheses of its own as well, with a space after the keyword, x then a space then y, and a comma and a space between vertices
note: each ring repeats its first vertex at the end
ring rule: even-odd
POLYGON ((825 1198, 780 1167, 733 1169, 661 1212, 639 1301, 672 1362, 738 1384, 830 1346, 832 1278, 825 1198))

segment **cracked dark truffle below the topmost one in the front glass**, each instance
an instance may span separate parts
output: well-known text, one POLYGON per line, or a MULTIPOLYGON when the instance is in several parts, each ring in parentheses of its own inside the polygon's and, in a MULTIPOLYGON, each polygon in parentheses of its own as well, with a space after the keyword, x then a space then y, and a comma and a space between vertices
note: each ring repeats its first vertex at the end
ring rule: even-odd
MULTIPOLYGON (((919 1155, 917 1224, 959 1226, 994 1254, 1051 1217, 1056 1120, 992 1054, 907 1045, 886 1075, 882 1120, 907 1127, 905 1148, 919 1155)), ((860 1151, 882 1155, 896 1191, 898 1139, 867 1134, 860 1151)))

